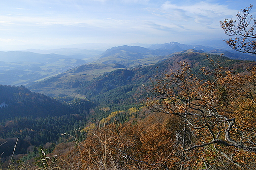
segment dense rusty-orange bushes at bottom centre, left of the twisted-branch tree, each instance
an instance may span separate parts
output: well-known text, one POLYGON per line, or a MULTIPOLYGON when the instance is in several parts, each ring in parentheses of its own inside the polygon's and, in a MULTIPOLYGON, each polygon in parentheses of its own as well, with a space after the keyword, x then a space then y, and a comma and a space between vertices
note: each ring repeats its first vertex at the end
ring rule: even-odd
POLYGON ((111 123, 97 127, 81 142, 84 164, 88 170, 179 169, 173 146, 173 129, 178 128, 169 125, 177 120, 156 114, 134 125, 111 123))

